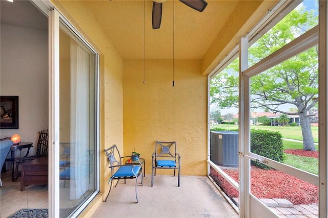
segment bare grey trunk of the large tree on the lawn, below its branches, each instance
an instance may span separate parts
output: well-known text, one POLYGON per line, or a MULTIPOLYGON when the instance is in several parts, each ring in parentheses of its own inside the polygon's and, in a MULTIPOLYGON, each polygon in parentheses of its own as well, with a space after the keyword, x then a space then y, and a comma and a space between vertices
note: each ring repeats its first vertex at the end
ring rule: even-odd
POLYGON ((303 150, 315 151, 316 147, 314 146, 310 120, 305 113, 299 113, 299 119, 302 128, 302 135, 303 135, 303 150))

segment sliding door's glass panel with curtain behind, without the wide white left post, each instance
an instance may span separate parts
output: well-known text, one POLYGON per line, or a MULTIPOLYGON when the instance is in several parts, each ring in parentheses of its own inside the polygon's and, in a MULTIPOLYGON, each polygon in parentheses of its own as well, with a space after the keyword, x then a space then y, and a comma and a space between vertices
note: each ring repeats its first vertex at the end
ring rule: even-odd
POLYGON ((59 22, 60 217, 96 191, 96 53, 59 22))

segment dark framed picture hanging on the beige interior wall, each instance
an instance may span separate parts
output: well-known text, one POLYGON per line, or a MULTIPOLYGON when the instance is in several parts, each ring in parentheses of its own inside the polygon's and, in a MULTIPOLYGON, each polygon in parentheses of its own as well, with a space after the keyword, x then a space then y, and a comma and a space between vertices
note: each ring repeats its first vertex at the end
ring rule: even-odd
POLYGON ((18 129, 18 96, 0 96, 0 129, 18 129))

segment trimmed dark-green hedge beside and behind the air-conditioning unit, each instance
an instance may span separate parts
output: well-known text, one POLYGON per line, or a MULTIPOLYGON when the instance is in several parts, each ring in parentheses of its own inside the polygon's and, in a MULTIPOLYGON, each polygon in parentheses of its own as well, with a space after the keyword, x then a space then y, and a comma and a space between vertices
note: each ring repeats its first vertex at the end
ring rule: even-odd
MULTIPOLYGON (((226 131, 222 128, 213 128, 211 131, 226 131)), ((238 131, 238 130, 229 130, 238 131)), ((263 157, 283 162, 285 156, 283 153, 282 136, 280 132, 268 130, 251 130, 251 152, 261 155, 263 157)), ((271 167, 264 165, 258 161, 251 161, 252 164, 263 169, 270 169, 271 167)))

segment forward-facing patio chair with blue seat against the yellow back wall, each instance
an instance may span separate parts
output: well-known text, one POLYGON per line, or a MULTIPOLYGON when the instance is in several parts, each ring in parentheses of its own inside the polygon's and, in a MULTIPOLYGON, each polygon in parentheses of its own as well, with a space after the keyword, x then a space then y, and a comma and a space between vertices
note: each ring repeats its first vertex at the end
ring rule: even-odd
POLYGON ((175 141, 156 141, 152 155, 152 186, 156 169, 178 169, 178 187, 180 187, 180 155, 176 152, 175 141))

